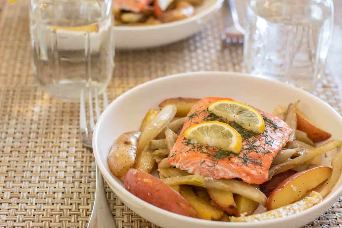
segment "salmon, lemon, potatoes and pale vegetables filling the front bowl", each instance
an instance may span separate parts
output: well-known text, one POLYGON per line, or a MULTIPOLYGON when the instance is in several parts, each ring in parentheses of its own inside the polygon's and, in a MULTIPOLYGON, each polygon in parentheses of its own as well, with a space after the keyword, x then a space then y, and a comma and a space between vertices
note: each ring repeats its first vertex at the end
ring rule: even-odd
POLYGON ((270 114, 231 98, 167 99, 147 111, 138 141, 127 140, 134 142, 126 156, 131 169, 112 159, 124 151, 111 150, 108 165, 128 170, 114 174, 135 196, 177 214, 225 222, 293 215, 321 202, 342 168, 342 153, 333 157, 332 168, 321 162, 342 142, 316 147, 330 135, 318 131, 297 104, 270 114), (298 130, 304 121, 310 125, 298 130), (156 164, 160 180, 148 174, 156 164), (265 207, 254 213, 258 205, 265 207))

